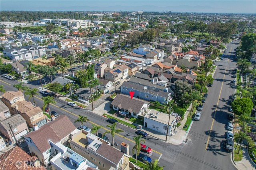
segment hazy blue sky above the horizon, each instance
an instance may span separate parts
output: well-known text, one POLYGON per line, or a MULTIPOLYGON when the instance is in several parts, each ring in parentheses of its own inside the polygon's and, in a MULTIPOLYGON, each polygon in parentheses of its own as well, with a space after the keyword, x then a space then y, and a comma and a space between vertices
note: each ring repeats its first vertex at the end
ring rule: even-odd
POLYGON ((253 13, 256 0, 0 0, 1 11, 253 13))

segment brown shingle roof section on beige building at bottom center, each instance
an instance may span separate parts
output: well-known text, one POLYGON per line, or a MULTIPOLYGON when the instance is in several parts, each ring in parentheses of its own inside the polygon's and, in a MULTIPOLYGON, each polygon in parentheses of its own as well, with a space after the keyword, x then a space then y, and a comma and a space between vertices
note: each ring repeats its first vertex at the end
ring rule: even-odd
POLYGON ((124 156, 123 152, 121 152, 113 147, 110 147, 106 143, 102 143, 100 145, 100 147, 97 149, 96 153, 100 154, 104 158, 107 158, 114 164, 118 164, 120 162, 120 160, 122 159, 122 157, 124 156))

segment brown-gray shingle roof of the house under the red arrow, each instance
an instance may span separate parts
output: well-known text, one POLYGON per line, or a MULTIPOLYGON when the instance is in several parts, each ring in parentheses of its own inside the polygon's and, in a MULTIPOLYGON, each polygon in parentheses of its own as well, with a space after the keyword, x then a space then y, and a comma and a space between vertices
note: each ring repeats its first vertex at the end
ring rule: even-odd
POLYGON ((118 94, 116 98, 114 98, 113 102, 111 102, 112 105, 133 113, 139 113, 144 103, 148 102, 139 100, 137 98, 132 98, 131 100, 130 96, 123 94, 118 94))

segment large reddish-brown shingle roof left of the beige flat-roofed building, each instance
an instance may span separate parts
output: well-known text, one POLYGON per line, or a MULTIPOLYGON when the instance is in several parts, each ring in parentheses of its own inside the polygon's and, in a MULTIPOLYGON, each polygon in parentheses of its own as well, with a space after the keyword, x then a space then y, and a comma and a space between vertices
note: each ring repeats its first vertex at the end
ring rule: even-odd
POLYGON ((54 121, 44 124, 37 131, 32 131, 25 137, 31 138, 40 152, 44 153, 51 147, 49 140, 57 143, 75 129, 76 127, 66 115, 59 115, 54 121))

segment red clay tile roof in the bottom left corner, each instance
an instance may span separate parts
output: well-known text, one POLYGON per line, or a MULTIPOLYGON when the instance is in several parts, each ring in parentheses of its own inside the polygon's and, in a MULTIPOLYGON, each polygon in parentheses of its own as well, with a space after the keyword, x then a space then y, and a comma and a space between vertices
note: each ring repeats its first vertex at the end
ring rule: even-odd
POLYGON ((2 170, 46 170, 36 156, 29 156, 20 147, 13 147, 0 156, 2 170))

